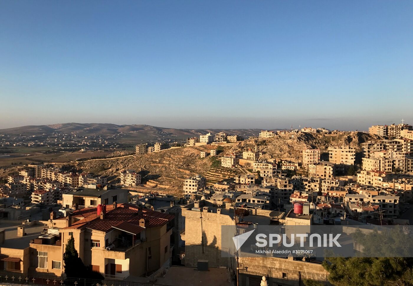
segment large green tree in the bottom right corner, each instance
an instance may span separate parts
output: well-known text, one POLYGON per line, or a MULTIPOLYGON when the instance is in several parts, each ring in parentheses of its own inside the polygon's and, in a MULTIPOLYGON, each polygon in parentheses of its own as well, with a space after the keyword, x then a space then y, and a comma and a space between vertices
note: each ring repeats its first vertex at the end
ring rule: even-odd
POLYGON ((361 251, 381 257, 328 257, 323 262, 330 273, 328 280, 336 286, 413 285, 409 235, 401 226, 380 232, 356 231, 353 237, 361 251))

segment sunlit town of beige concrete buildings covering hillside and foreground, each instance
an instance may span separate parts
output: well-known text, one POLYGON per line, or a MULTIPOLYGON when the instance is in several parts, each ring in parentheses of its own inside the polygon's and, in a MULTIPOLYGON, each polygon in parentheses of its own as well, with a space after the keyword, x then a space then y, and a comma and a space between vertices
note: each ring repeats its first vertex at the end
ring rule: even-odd
POLYGON ((317 257, 223 259, 221 226, 410 225, 413 127, 372 126, 365 135, 375 139, 360 146, 326 143, 350 134, 304 127, 249 138, 207 133, 183 146, 136 144, 135 158, 189 148, 201 164, 212 162, 205 173, 176 178, 180 195, 168 194, 144 168, 102 175, 70 163, 19 166, 1 178, 1 270, 56 281, 65 275, 62 255, 73 237, 83 263, 105 281, 157 285, 183 271, 179 267, 206 267, 221 285, 260 285, 262 277, 277 286, 304 280, 328 285, 317 257), (314 148, 295 150, 298 159, 263 149, 272 144, 267 140, 308 133, 325 137, 305 145, 314 148), (243 149, 234 150, 240 142, 243 149))

